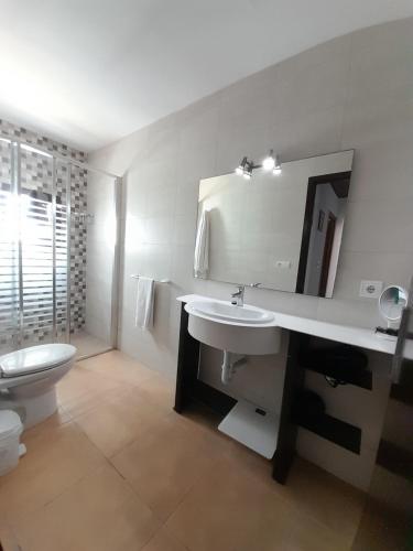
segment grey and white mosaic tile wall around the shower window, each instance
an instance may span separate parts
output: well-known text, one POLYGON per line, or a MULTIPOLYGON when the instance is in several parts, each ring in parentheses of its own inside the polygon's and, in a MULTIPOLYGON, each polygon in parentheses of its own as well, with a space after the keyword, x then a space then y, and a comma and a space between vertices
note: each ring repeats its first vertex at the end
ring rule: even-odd
MULTIPOLYGON (((76 161, 86 161, 81 151, 68 148, 48 138, 35 134, 24 128, 13 126, 0 119, 0 137, 18 138, 33 148, 42 148, 76 161)), ((2 188, 11 183, 11 148, 0 141, 0 179, 2 188)), ((21 185, 22 192, 36 199, 52 201, 52 159, 33 151, 21 150, 21 185)), ((56 204, 62 217, 66 212, 67 166, 56 162, 56 204)), ((86 304, 86 242, 87 242, 87 171, 72 165, 70 170, 70 332, 79 331, 85 324, 86 304)), ((64 219, 61 219, 64 223, 64 219)), ((66 300, 61 298, 57 304, 59 318, 57 333, 66 331, 66 300)), ((42 318, 41 304, 39 316, 25 326, 25 343, 51 339, 51 324, 42 318)), ((3 337, 4 339, 4 337, 3 337)), ((4 344, 1 343, 0 344, 4 344)))

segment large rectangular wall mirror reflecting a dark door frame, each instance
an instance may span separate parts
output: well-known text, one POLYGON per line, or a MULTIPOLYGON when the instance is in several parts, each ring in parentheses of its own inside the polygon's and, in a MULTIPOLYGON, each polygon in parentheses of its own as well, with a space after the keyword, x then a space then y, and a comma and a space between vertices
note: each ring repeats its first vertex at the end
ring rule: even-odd
POLYGON ((199 182, 195 277, 332 298, 354 151, 199 182))

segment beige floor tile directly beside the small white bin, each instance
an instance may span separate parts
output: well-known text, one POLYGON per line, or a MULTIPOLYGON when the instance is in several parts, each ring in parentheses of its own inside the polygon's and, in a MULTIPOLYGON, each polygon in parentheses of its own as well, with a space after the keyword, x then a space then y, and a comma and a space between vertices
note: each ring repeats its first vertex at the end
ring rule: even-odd
POLYGON ((105 463, 105 457, 74 423, 36 428, 23 434, 28 453, 0 477, 0 518, 13 519, 54 499, 105 463))

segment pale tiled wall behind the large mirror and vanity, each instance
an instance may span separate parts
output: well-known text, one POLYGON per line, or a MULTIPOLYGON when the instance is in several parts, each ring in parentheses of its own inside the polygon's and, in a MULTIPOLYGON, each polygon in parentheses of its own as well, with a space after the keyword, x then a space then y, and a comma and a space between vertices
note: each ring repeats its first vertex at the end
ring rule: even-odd
MULTIPOLYGON (((227 299, 233 289, 192 276, 199 180, 233 170, 244 154, 259 159, 270 147, 283 161, 354 148, 348 213, 333 299, 251 289, 247 302, 365 327, 379 322, 376 302, 358 296, 360 279, 405 287, 413 272, 412 35, 409 19, 322 44, 90 155, 96 166, 126 176, 122 350, 174 377, 175 298, 227 299), (133 272, 173 281, 157 288, 152 334, 133 326, 133 272)), ((267 359, 253 383, 247 369, 237 376, 237 391, 275 409, 283 358, 267 359)), ((373 366, 378 361, 373 356, 373 366)), ((203 377, 213 379, 218 366, 208 365, 203 377)), ((324 465, 329 458, 332 472, 366 487, 377 445, 370 435, 380 429, 388 381, 378 375, 372 393, 317 383, 343 419, 357 413, 367 437, 359 457, 301 431, 300 452, 324 465)))

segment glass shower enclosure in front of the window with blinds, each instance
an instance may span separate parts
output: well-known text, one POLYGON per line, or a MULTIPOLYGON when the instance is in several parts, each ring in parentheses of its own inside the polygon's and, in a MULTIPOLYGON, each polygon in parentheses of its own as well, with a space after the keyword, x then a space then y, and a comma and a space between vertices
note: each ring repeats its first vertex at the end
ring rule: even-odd
POLYGON ((116 346, 120 179, 0 138, 0 355, 116 346))

